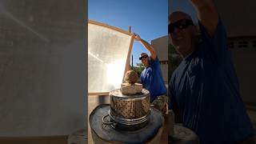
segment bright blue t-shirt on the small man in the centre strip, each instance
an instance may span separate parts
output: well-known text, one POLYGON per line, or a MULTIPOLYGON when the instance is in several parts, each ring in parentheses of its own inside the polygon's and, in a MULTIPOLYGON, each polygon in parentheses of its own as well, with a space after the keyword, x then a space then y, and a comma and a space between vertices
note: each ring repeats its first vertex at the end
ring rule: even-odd
POLYGON ((157 96, 167 93, 158 57, 150 58, 150 66, 142 71, 141 81, 143 87, 150 91, 150 102, 153 102, 157 96))

